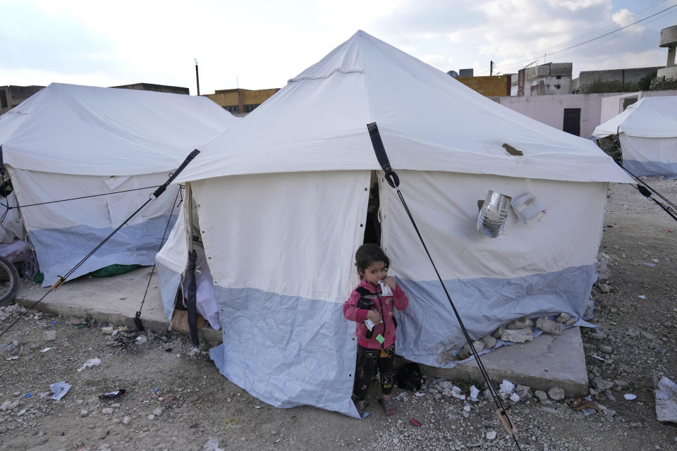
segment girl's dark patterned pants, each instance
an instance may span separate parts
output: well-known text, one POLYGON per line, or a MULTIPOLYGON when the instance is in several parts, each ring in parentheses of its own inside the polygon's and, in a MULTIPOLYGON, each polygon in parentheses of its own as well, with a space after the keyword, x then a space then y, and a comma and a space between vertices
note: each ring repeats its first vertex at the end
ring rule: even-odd
POLYGON ((355 363, 355 385, 353 385, 353 400, 367 399, 367 388, 374 376, 374 368, 378 366, 381 374, 381 393, 390 395, 393 391, 395 345, 385 350, 388 357, 379 357, 381 350, 372 350, 358 345, 358 357, 355 363))

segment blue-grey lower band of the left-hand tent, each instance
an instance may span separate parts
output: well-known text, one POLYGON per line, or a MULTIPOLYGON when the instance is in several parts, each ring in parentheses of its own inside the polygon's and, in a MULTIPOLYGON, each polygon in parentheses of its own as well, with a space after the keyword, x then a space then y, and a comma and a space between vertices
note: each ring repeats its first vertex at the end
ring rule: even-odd
MULTIPOLYGON (((164 215, 121 228, 75 270, 68 280, 111 264, 151 266, 160 248, 167 220, 169 215, 164 215)), ((169 228, 175 222, 176 215, 172 215, 169 228)), ((52 285, 59 276, 71 271, 73 266, 92 252, 113 230, 114 228, 73 226, 30 232, 30 241, 35 247, 40 271, 44 273, 42 286, 52 285)))

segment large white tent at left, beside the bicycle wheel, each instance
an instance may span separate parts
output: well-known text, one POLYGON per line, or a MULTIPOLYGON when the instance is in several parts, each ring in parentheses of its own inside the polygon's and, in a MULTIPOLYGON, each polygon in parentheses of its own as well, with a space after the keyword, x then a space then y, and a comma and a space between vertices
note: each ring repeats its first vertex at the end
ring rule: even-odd
MULTIPOLYGON (((237 121, 205 97, 61 83, 0 116, 2 156, 44 284, 94 249, 195 147, 237 121), (110 195, 49 203, 95 194, 110 195)), ((177 192, 146 206, 71 278, 111 264, 152 265, 177 192)))

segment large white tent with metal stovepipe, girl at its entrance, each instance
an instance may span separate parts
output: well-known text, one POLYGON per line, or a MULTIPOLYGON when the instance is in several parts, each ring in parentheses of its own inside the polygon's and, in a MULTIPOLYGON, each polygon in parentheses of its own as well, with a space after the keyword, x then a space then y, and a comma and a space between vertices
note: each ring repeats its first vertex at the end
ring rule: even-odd
POLYGON ((451 366, 442 354, 464 345, 415 230, 382 180, 367 132, 374 121, 473 338, 523 315, 581 318, 596 277, 607 183, 631 181, 592 142, 357 32, 200 148, 178 179, 197 219, 185 211, 157 256, 169 314, 186 267, 185 224, 193 221, 223 328, 212 359, 274 406, 357 416, 355 323, 341 307, 358 283, 354 255, 374 173, 389 273, 410 299, 398 313, 396 352, 451 366), (532 193, 547 214, 527 223, 511 216, 503 235, 484 236, 477 200, 489 189, 532 193))

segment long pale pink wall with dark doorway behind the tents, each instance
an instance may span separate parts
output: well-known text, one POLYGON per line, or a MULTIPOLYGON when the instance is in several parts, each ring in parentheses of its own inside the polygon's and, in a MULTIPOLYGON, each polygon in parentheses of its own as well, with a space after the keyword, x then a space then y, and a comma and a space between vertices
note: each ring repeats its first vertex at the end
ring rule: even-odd
POLYGON ((674 96, 677 91, 611 92, 549 96, 504 96, 492 100, 536 121, 580 137, 642 97, 674 96))

